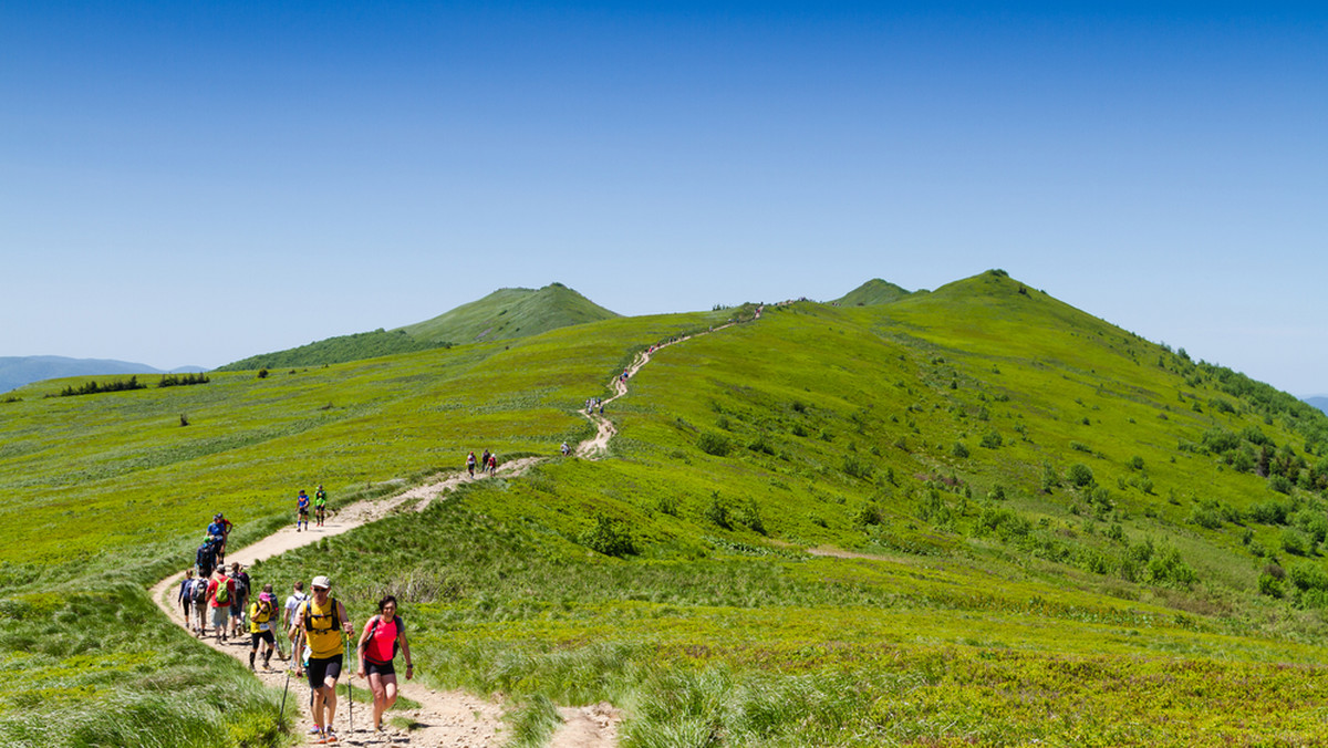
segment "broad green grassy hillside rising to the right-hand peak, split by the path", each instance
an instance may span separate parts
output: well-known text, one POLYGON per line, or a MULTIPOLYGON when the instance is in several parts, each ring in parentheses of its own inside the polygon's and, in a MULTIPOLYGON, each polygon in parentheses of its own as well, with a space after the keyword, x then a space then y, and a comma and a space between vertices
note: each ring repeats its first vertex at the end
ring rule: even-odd
MULTIPOLYGON (((212 512, 244 543, 315 482, 337 504, 469 449, 552 456, 636 351, 721 322, 19 391, 0 404, 0 656, 56 696, 19 708, 21 686, 0 687, 0 741, 58 744, 42 725, 125 700, 166 713, 163 678, 199 699, 242 688, 185 678, 181 652, 228 666, 133 616, 134 585, 181 566, 212 512), (78 623, 96 606, 138 635, 108 648, 78 623)), ((602 699, 625 709, 625 745, 1324 733, 1328 417, 1289 395, 993 271, 890 304, 768 308, 657 351, 607 415, 607 460, 551 457, 255 577, 332 574, 356 619, 398 595, 421 676, 503 692, 522 735, 552 703, 602 699)), ((252 743, 276 740, 275 704, 236 699, 267 725, 252 743)))

